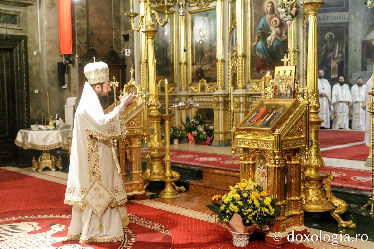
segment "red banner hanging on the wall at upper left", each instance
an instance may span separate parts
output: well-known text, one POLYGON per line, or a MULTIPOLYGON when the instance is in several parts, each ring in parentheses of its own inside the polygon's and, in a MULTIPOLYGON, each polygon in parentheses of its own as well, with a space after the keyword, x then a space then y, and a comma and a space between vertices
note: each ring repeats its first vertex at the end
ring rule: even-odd
POLYGON ((73 51, 71 35, 71 0, 58 0, 58 39, 60 54, 69 55, 73 51))

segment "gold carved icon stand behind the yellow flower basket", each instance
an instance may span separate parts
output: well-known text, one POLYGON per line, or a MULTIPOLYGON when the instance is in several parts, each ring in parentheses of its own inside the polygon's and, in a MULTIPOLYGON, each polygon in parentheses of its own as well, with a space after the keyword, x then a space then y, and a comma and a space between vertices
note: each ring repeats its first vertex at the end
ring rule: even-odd
MULTIPOLYGON (((281 212, 276 221, 269 222, 265 236, 266 245, 281 248, 288 245, 289 231, 305 234, 303 192, 301 188, 301 162, 307 147, 309 102, 301 94, 300 81, 295 86, 296 99, 272 99, 272 80, 261 95, 262 100, 232 130, 232 155, 239 151, 240 179, 252 179, 259 185, 258 167, 264 167, 265 184, 260 185, 270 197, 277 198, 276 207, 281 212), (288 108, 270 127, 253 126, 249 119, 264 106, 286 105, 288 108), (273 234, 282 234, 275 240, 273 234)), ((261 172, 262 173, 262 172, 261 172)))

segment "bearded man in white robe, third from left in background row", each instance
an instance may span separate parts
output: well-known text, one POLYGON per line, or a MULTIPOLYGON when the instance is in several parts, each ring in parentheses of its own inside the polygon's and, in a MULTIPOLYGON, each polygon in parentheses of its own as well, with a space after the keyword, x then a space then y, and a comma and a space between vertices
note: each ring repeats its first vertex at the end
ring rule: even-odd
POLYGON ((357 84, 352 85, 350 92, 352 97, 352 129, 365 130, 365 88, 364 78, 358 77, 357 84))

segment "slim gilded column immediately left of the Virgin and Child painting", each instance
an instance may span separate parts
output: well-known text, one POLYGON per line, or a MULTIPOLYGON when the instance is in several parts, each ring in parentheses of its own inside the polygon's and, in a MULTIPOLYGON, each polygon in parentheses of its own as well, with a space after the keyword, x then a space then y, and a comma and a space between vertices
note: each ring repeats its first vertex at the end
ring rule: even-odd
POLYGON ((244 0, 236 0, 236 84, 245 90, 244 0))

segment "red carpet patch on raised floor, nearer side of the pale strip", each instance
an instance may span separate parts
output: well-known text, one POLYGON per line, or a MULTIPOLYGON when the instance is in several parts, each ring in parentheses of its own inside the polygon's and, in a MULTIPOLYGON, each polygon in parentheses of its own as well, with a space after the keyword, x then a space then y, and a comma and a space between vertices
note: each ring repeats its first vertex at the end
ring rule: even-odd
POLYGON ((325 158, 339 158, 365 161, 369 155, 369 147, 365 144, 353 145, 321 152, 325 158))

